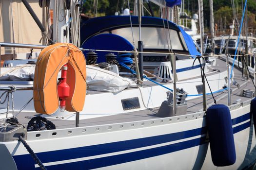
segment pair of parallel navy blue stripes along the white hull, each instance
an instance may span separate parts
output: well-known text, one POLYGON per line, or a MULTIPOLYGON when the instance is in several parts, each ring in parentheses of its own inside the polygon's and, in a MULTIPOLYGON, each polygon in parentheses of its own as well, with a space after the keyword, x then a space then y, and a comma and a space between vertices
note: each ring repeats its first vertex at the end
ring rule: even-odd
MULTIPOLYGON (((240 116, 238 118, 232 119, 232 123, 233 125, 235 125, 237 123, 243 122, 248 119, 250 119, 250 113, 240 116)), ((251 122, 249 121, 234 127, 233 128, 234 134, 250 127, 250 123, 251 122)), ((37 153, 37 155, 43 163, 55 162, 55 161, 61 161, 61 160, 75 159, 75 158, 81 158, 81 157, 87 157, 87 156, 93 156, 93 155, 99 155, 99 154, 105 154, 105 153, 114 153, 119 151, 136 149, 140 147, 146 147, 146 146, 171 142, 175 140, 185 139, 188 137, 203 135, 203 134, 206 134, 206 132, 207 132, 207 128, 202 127, 202 128, 197 128, 193 130, 173 133, 173 134, 151 136, 151 137, 138 138, 133 140, 112 142, 112 143, 65 149, 65 150, 59 150, 59 151, 37 153)), ((179 142, 176 144, 162 146, 158 148, 137 151, 133 153, 118 154, 115 156, 108 156, 108 157, 102 157, 102 158, 91 159, 86 161, 79 161, 75 163, 55 165, 55 166, 50 166, 49 168, 53 168, 55 170, 56 169, 63 170, 63 169, 71 169, 74 166, 81 166, 81 168, 84 170, 84 169, 92 169, 90 168, 91 166, 105 167, 105 166, 110 166, 110 164, 116 165, 120 163, 135 161, 139 159, 149 158, 149 157, 158 156, 161 154, 172 153, 175 151, 195 147, 200 144, 203 144, 204 142, 202 141, 205 141, 205 137, 188 140, 184 142, 179 142)), ((63 142, 65 141, 63 140, 63 142)), ((31 155, 29 154, 13 156, 13 158, 16 162, 17 167, 21 170, 35 168, 34 167, 35 162, 31 158, 31 155)), ((99 167, 96 167, 96 168, 99 168, 99 167)), ((49 168, 47 167, 47 169, 49 168)), ((76 169, 77 168, 78 167, 76 167, 76 169)))

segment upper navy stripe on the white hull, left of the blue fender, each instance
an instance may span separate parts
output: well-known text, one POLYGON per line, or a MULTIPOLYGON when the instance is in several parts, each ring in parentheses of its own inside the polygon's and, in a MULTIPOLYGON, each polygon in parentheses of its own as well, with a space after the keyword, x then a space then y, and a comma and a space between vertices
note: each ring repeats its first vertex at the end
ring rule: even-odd
MULTIPOLYGON (((203 134, 206 134, 206 132, 207 132, 206 127, 203 127, 203 128, 197 128, 189 131, 177 132, 177 133, 167 134, 167 135, 151 136, 151 137, 144 137, 144 138, 138 138, 133 140, 125 140, 125 141, 104 143, 104 144, 85 146, 85 147, 79 147, 79 148, 64 149, 59 151, 37 153, 37 155, 42 162, 48 162, 49 160, 51 160, 51 162, 55 162, 60 160, 76 159, 80 157, 94 156, 94 155, 105 154, 105 153, 114 153, 114 152, 136 149, 136 148, 141 148, 141 147, 146 147, 151 145, 157 145, 157 144, 180 140, 188 137, 203 135, 203 134)), ((17 155, 14 157, 15 157, 15 161, 16 160, 19 161, 20 157, 23 157, 23 155, 17 155)))

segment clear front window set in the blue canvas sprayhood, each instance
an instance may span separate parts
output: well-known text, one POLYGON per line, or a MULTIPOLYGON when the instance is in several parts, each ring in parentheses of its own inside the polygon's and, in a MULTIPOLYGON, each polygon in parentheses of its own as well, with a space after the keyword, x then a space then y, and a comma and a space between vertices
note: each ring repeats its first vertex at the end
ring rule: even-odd
MULTIPOLYGON (((176 30, 169 30, 171 36, 171 43, 173 50, 186 50, 183 49, 179 35, 176 30)), ((119 28, 112 30, 112 34, 117 34, 127 39, 133 44, 133 36, 130 27, 119 28)), ((138 48, 139 32, 138 27, 133 27, 133 35, 135 41, 135 47, 138 48)), ((182 37, 182 36, 181 36, 182 37)), ((156 28, 156 27, 142 27, 141 28, 141 39, 143 41, 144 49, 168 49, 170 44, 168 29, 156 28), (168 42, 168 43, 167 43, 168 42)), ((185 46, 186 47, 186 46, 185 46)))

